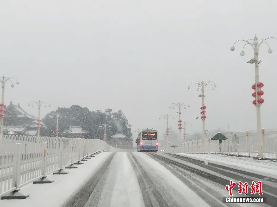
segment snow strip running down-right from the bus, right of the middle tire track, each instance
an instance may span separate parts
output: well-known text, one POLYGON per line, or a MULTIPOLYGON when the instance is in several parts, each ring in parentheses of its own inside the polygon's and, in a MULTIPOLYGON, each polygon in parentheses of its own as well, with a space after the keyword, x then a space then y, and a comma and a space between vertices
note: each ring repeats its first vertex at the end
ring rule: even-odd
MULTIPOLYGON (((155 183, 159 182, 161 184, 161 188, 166 189, 166 191, 159 190, 163 197, 166 197, 166 194, 169 194, 174 199, 174 203, 177 203, 180 206, 209 206, 204 200, 201 199, 201 197, 181 182, 175 175, 173 175, 157 161, 150 158, 147 154, 133 154, 144 170, 153 175, 152 178, 155 180, 152 181, 155 183)), ((165 200, 168 201, 167 199, 165 200)))

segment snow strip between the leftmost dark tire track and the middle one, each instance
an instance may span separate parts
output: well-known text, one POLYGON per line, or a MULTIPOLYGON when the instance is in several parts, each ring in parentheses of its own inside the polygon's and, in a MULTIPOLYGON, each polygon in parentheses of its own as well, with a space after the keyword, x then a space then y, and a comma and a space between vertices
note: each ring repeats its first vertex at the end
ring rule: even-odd
POLYGON ((117 152, 84 207, 144 207, 136 173, 126 152, 117 152), (98 200, 98 203, 97 203, 98 200))

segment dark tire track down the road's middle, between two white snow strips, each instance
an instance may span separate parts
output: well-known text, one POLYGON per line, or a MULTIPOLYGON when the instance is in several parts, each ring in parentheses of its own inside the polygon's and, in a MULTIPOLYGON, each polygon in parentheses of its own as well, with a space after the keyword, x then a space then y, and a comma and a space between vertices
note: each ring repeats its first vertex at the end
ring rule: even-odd
POLYGON ((137 159, 132 153, 128 153, 128 159, 136 172, 138 184, 141 189, 141 194, 145 207, 169 207, 164 200, 161 193, 155 187, 155 184, 151 181, 145 170, 138 163, 137 159))

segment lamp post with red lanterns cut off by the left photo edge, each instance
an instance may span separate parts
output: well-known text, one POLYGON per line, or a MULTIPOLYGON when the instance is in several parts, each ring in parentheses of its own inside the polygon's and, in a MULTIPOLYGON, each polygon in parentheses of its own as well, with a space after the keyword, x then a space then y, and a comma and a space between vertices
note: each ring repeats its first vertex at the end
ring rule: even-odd
POLYGON ((4 94, 5 94, 5 84, 7 83, 7 81, 10 81, 11 82, 11 87, 13 88, 14 85, 13 85, 13 81, 12 79, 15 79, 16 80, 16 84, 19 84, 18 80, 16 78, 9 78, 9 77, 5 77, 4 75, 2 76, 2 78, 0 79, 0 83, 1 83, 1 88, 2 88, 2 94, 1 94, 1 103, 0 103, 0 138, 1 136, 3 135, 3 126, 4 126, 4 117, 6 115, 4 115, 4 112, 6 111, 5 108, 6 108, 6 105, 4 104, 4 94))

